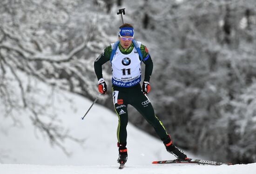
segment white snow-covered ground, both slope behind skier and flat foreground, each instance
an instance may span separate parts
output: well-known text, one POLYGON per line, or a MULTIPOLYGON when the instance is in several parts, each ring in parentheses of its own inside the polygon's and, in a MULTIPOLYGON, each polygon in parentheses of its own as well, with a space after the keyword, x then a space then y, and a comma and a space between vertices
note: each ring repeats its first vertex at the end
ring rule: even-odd
MULTIPOLYGON (((45 87, 47 90, 47 87, 45 87)), ((111 110, 95 104, 84 120, 91 101, 65 91, 56 92, 53 107, 62 124, 70 129, 70 134, 85 138, 83 146, 63 142, 71 156, 60 148, 51 147, 48 140, 35 134, 34 127, 26 111, 19 113, 22 127, 13 127, 8 118, 0 115, 0 174, 115 174, 118 170, 118 148, 116 128, 118 117, 111 110), (63 97, 65 96, 65 97, 63 97), (68 99, 72 100, 72 103, 68 99)), ((112 101, 109 101, 112 102, 112 101)), ((256 163, 235 166, 197 166, 151 164, 156 160, 175 159, 167 153, 162 142, 135 126, 128 124, 128 162, 123 174, 241 174, 256 171, 256 163)), ((200 158, 187 153, 191 158, 200 158)))

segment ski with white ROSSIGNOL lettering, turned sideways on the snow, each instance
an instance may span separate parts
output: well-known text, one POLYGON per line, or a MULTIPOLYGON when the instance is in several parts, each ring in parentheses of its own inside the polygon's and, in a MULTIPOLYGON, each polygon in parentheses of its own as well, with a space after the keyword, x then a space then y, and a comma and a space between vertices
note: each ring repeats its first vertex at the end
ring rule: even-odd
POLYGON ((229 162, 217 162, 217 161, 208 161, 208 160, 196 160, 189 158, 188 160, 166 160, 166 161, 153 161, 152 164, 199 164, 199 165, 214 165, 214 166, 220 166, 220 165, 232 165, 232 163, 229 162))

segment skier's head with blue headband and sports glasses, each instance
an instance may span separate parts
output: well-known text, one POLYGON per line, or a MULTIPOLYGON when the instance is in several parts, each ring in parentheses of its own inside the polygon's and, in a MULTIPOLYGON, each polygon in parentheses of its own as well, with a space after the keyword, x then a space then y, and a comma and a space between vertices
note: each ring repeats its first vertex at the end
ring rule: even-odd
POLYGON ((120 44, 124 49, 129 48, 132 44, 132 40, 134 37, 134 29, 131 24, 123 24, 119 27, 119 34, 118 34, 120 44))

